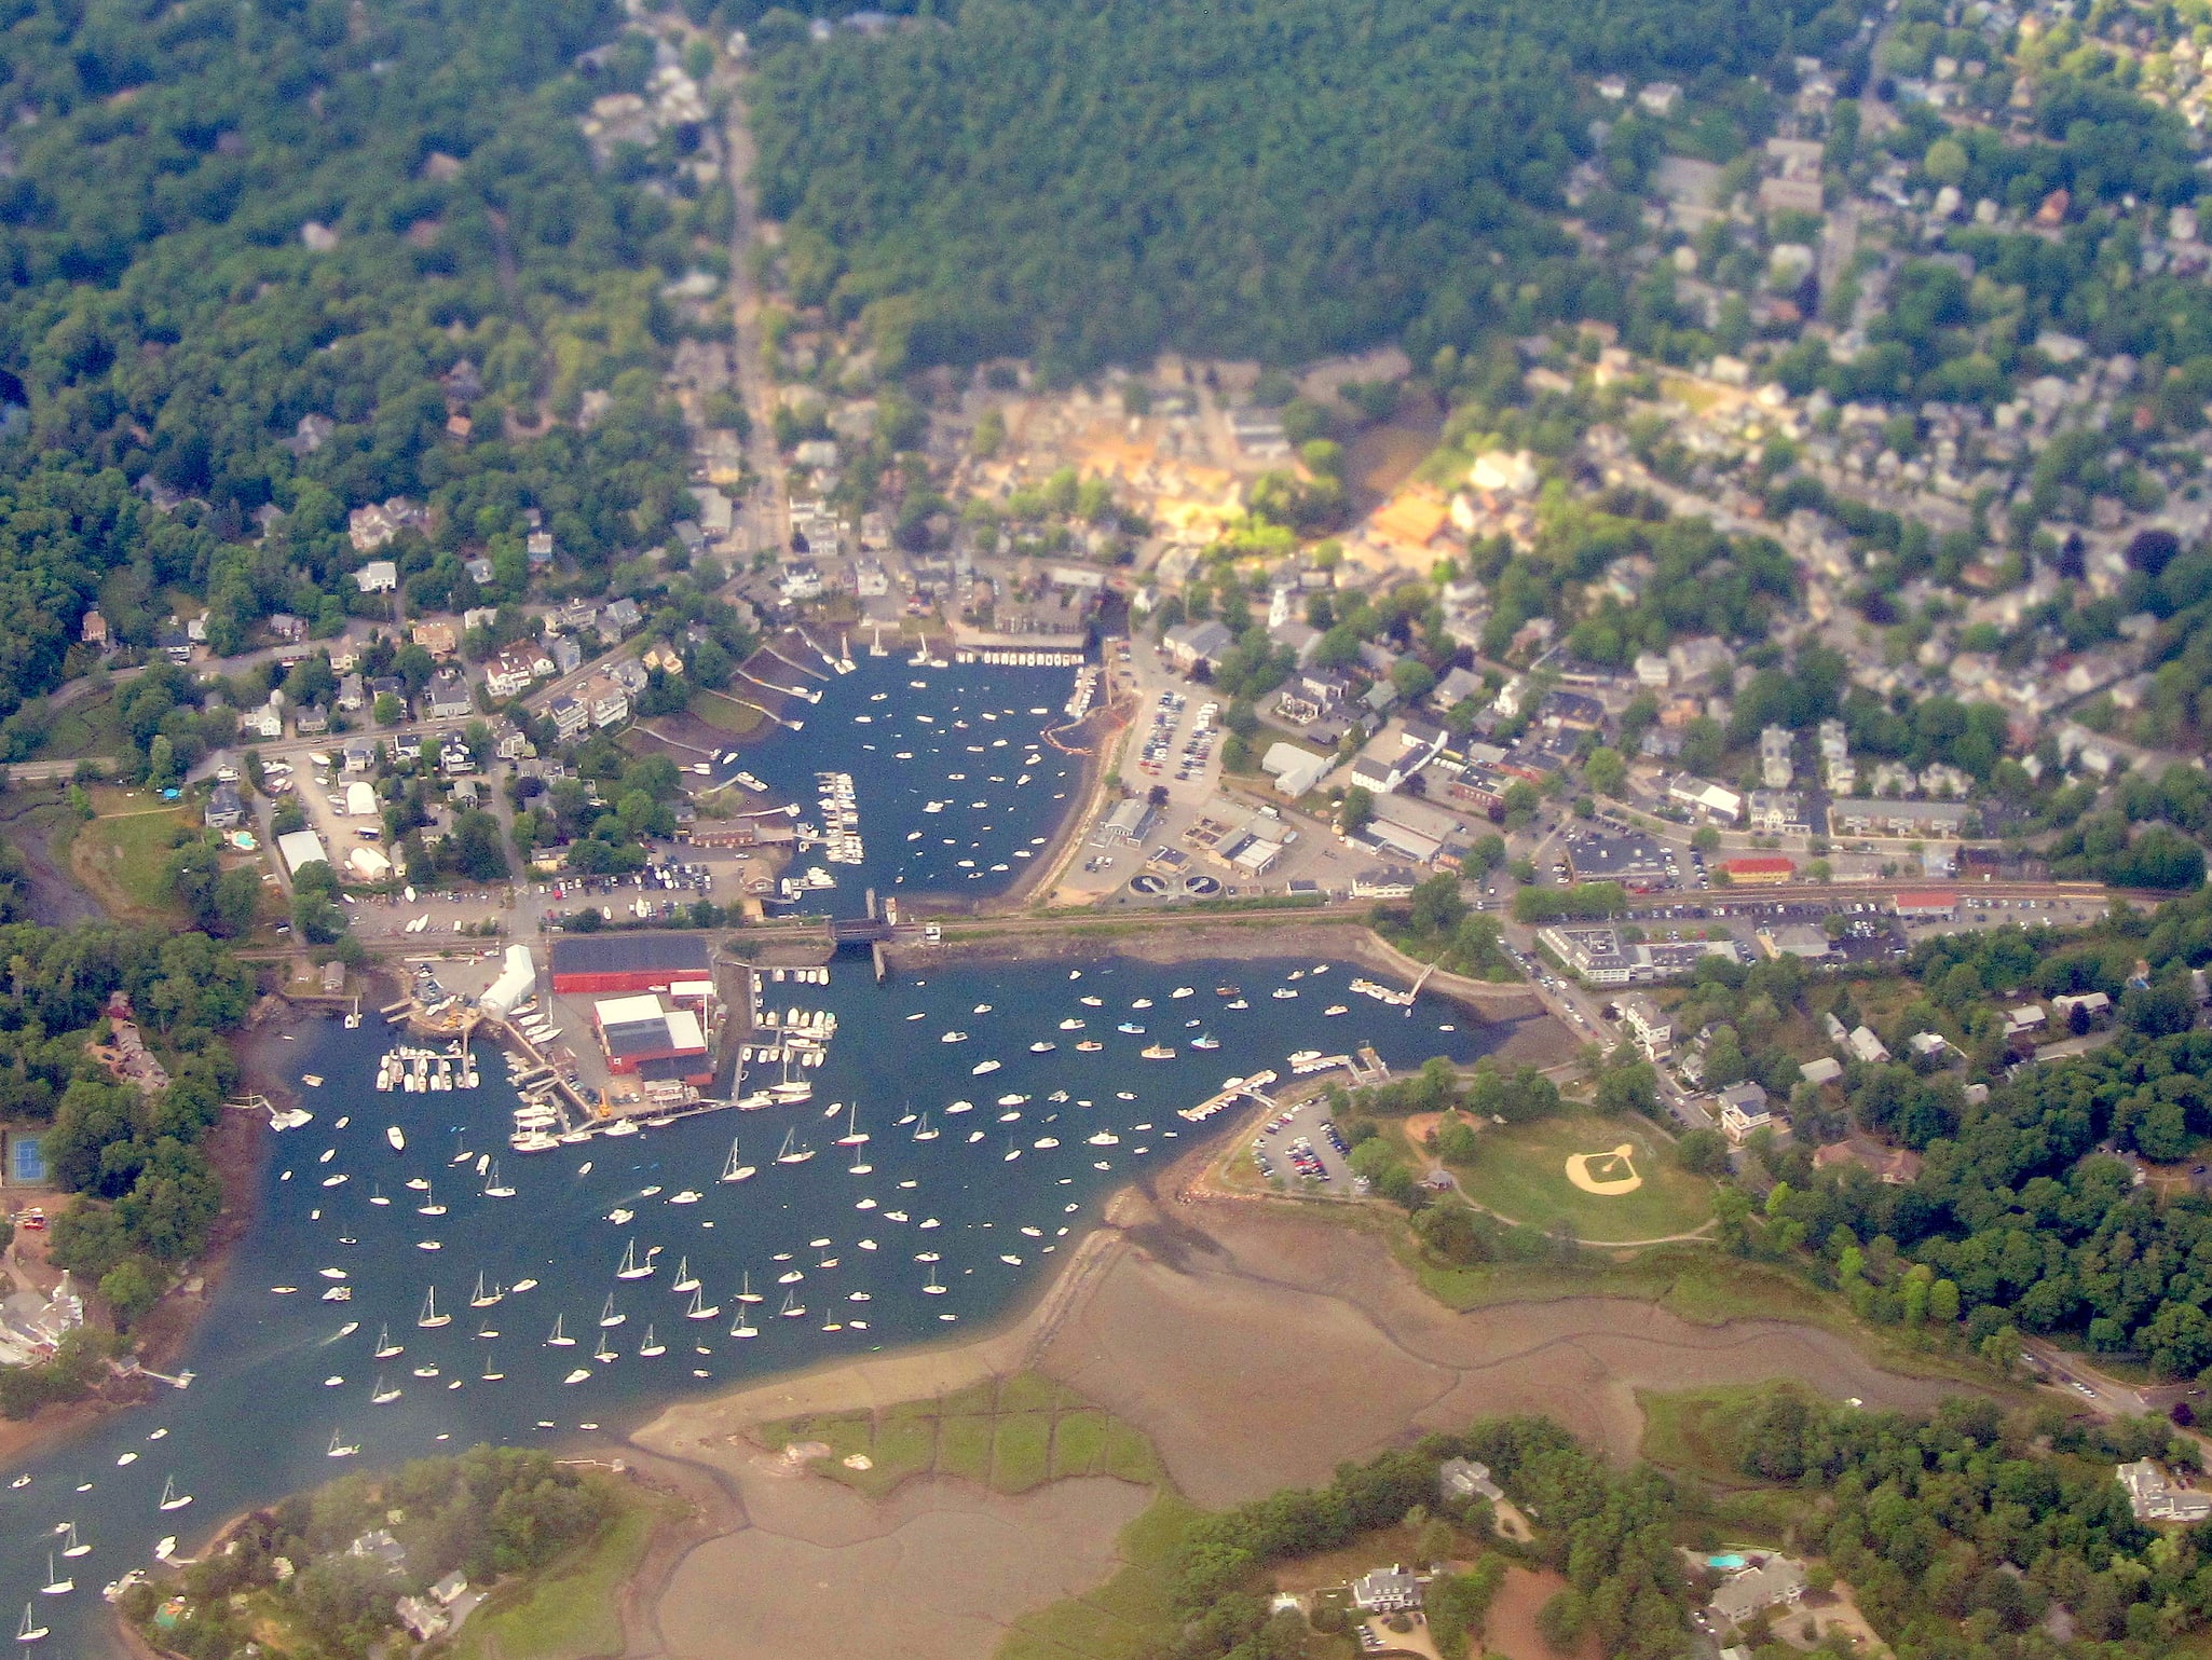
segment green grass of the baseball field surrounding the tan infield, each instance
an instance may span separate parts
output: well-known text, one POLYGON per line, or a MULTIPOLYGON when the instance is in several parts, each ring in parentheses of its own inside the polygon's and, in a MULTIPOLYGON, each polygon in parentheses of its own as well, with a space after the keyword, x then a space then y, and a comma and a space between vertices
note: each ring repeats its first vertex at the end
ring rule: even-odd
POLYGON ((1566 1112, 1522 1125, 1486 1125, 1482 1152, 1453 1167, 1478 1205, 1531 1227, 1575 1229, 1577 1238, 1657 1240, 1712 1218, 1712 1183, 1677 1167, 1670 1147, 1641 1118, 1566 1112), (1628 1145, 1644 1185, 1632 1194, 1586 1194, 1566 1176, 1575 1154, 1628 1145))

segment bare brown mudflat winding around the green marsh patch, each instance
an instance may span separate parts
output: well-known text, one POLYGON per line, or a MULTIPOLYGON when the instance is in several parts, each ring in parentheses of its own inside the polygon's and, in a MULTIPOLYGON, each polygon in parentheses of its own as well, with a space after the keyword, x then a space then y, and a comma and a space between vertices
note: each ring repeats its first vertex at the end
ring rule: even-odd
POLYGON ((1453 1313, 1387 1247, 1272 1205, 1124 1194, 1044 1297, 987 1337, 686 1401, 635 1441, 714 1474, 739 1523, 659 1598, 675 1660, 975 1660, 1015 1616, 1095 1589, 1148 1494, 1110 1479, 1024 1496, 927 1479, 872 1503, 765 1454, 745 1430, 792 1412, 891 1406, 1033 1366, 1152 1437, 1183 1494, 1230 1505, 1489 1412, 1548 1412, 1628 1459, 1639 1388, 1796 1377, 1869 1406, 1931 1408, 1832 1333, 1697 1326, 1624 1297, 1453 1313), (889 1609, 889 1625, 878 1625, 889 1609))

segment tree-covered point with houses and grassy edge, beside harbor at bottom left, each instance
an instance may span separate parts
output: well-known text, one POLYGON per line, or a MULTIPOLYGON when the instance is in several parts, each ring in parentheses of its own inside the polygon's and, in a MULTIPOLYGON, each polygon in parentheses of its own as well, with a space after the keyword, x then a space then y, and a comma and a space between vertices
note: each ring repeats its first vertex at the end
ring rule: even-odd
POLYGON ((434 1640, 515 1656, 533 1631, 577 1642, 602 1625, 613 1649, 615 1591, 666 1514, 619 1463, 480 1446, 252 1510, 197 1561, 111 1591, 139 1638, 186 1660, 365 1660, 434 1640))

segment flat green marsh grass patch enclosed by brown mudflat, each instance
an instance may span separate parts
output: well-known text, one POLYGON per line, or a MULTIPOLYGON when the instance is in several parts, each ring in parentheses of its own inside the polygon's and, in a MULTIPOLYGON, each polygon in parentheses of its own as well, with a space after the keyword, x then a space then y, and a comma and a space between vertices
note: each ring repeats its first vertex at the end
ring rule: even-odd
POLYGON ((814 1470, 869 1499, 927 1474, 962 1477, 1009 1494, 1062 1477, 1161 1481, 1150 1441, 1040 1373, 984 1379, 958 1395, 880 1412, 776 1419, 757 1435, 779 1452, 796 1441, 821 1441, 830 1457, 816 1459, 814 1470), (865 1470, 845 1463, 856 1454, 867 1459, 865 1470))

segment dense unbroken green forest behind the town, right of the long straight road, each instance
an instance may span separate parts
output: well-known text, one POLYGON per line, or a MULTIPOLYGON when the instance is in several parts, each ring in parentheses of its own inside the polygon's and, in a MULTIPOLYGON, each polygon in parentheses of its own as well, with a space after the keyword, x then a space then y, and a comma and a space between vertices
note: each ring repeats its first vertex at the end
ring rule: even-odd
MULTIPOLYGON (((765 20, 763 20, 765 22, 765 20)), ((1571 243, 1542 219, 1615 106, 1856 27, 1818 0, 969 0, 951 27, 763 29, 763 210, 801 303, 887 363, 1279 363, 1460 340, 1571 243)))

